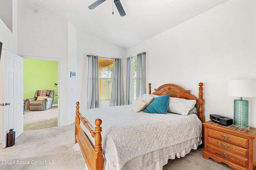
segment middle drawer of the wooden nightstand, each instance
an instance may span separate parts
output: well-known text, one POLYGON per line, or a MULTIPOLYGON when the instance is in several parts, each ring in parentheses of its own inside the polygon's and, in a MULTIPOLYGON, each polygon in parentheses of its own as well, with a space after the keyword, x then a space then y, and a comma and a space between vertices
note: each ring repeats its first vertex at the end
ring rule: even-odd
POLYGON ((235 145, 214 139, 212 137, 208 137, 208 146, 214 147, 218 150, 221 150, 222 152, 231 153, 237 156, 242 156, 245 159, 248 158, 247 149, 237 147, 235 145))

